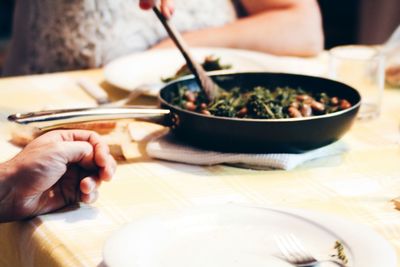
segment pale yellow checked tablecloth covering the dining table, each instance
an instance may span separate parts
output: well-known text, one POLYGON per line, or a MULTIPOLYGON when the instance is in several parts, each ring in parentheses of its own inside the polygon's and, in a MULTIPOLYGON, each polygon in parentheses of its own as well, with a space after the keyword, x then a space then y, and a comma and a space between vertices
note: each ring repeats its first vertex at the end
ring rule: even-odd
MULTIPOLYGON (((7 114, 95 105, 76 85, 80 76, 104 86, 114 99, 127 94, 107 85, 101 70, 0 79, 0 161, 19 151, 7 141, 7 114)), ((371 227, 400 256, 400 211, 391 202, 400 195, 399 103, 400 90, 386 88, 381 116, 355 123, 343 138, 346 153, 291 171, 158 160, 120 164, 95 204, 0 225, 0 265, 101 266, 104 242, 122 225, 160 211, 227 202, 337 215, 371 227)))

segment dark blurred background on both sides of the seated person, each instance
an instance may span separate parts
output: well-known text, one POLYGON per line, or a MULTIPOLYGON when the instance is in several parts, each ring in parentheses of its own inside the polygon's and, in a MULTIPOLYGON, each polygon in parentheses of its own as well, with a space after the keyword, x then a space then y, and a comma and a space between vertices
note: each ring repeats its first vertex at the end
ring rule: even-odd
MULTIPOLYGON (((14 1, 0 0, 0 69, 11 35, 14 1)), ((400 0, 319 0, 319 4, 327 49, 349 43, 382 43, 400 24, 400 0)))

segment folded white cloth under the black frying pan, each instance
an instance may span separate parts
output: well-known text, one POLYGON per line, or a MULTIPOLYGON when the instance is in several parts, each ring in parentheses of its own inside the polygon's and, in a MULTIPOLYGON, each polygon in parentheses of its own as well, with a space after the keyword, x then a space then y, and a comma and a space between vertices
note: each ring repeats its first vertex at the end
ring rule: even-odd
POLYGON ((347 150, 347 147, 339 141, 300 154, 225 153, 193 147, 180 142, 172 134, 168 134, 149 142, 146 149, 150 157, 187 164, 230 164, 255 169, 290 170, 309 160, 341 154, 347 150))

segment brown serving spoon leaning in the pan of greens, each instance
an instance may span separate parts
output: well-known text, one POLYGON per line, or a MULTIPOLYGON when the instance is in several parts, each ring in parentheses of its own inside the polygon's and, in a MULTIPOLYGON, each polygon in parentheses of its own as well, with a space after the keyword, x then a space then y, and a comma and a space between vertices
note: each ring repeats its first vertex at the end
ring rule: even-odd
POLYGON ((186 42, 183 40, 181 34, 176 30, 176 28, 170 23, 170 21, 164 17, 157 7, 153 7, 153 11, 163 24, 164 28, 167 30, 169 37, 182 53, 189 70, 193 73, 197 83, 200 85, 200 88, 206 93, 208 100, 214 100, 219 95, 220 89, 218 85, 211 80, 203 67, 197 63, 197 61, 193 60, 186 42))

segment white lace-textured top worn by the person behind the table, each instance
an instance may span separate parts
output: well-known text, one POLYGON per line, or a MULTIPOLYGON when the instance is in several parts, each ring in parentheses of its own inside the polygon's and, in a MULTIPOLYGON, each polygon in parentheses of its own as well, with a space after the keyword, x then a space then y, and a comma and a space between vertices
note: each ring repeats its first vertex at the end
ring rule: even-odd
MULTIPOLYGON (((180 31, 236 19, 231 0, 175 0, 180 31)), ((18 0, 4 74, 94 68, 145 50, 166 37, 138 0, 18 0)))

